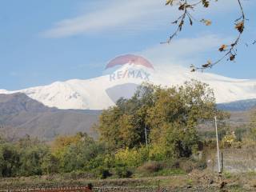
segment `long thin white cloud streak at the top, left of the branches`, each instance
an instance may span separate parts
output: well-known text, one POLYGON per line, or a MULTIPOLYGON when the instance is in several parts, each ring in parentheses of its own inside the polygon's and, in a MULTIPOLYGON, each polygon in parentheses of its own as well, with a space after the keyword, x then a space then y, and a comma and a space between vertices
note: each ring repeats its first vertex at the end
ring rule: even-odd
MULTIPOLYGON (((161 2, 156 0, 129 0, 129 1, 112 1, 106 4, 103 10, 69 18, 58 22, 53 29, 47 30, 44 34, 46 37, 62 38, 75 34, 94 32, 98 30, 115 30, 116 27, 128 27, 134 25, 140 27, 140 24, 150 24, 147 18, 151 14, 159 14, 167 10, 161 2), (141 18, 144 18, 144 23, 141 18)), ((158 18, 155 18, 158 19, 158 18)))

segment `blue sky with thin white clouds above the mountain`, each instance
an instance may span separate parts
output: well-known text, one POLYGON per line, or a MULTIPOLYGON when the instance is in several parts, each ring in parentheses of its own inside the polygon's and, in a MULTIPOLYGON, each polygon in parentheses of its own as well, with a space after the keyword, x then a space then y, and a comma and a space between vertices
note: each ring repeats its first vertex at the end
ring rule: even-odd
MULTIPOLYGON (((237 31, 235 0, 213 2, 194 16, 212 26, 194 23, 170 45, 160 45, 174 30, 178 11, 164 0, 0 0, 0 89, 18 90, 71 78, 93 78, 119 54, 141 54, 154 66, 184 67, 218 58, 218 47, 237 31)), ((236 62, 222 62, 210 73, 256 78, 254 0, 242 0, 249 21, 238 46, 236 62)), ((189 69, 188 69, 189 70, 189 69)))

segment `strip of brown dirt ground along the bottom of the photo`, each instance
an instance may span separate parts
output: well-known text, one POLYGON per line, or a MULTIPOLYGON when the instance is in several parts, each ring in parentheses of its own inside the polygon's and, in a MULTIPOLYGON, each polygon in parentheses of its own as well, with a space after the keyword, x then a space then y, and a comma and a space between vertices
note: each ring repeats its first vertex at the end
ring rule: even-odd
POLYGON ((59 186, 94 185, 94 191, 256 191, 256 174, 213 174, 209 170, 194 170, 186 175, 155 178, 122 178, 88 180, 56 180, 42 176, 38 178, 2 178, 0 191, 22 190, 59 186))

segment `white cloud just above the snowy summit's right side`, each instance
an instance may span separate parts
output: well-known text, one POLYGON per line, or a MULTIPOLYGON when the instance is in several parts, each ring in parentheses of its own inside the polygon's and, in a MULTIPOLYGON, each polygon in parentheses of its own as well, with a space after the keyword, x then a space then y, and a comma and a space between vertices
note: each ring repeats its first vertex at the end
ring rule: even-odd
POLYGON ((208 34, 198 38, 180 38, 170 44, 158 44, 137 53, 150 59, 154 66, 190 66, 199 62, 200 54, 212 51, 218 53, 218 46, 230 42, 232 38, 221 38, 208 34))

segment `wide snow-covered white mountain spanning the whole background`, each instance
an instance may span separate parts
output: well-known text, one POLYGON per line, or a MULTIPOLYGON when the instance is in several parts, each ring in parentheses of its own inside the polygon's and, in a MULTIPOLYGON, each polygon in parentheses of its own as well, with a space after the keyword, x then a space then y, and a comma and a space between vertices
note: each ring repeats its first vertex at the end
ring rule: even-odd
POLYGON ((112 71, 107 69, 106 72, 98 78, 72 79, 25 90, 0 90, 0 94, 21 92, 46 106, 59 109, 102 110, 113 106, 120 97, 129 98, 134 94, 136 86, 142 82, 176 86, 193 78, 209 84, 214 89, 218 103, 256 98, 256 80, 226 78, 200 72, 191 73, 190 70, 179 66, 154 70, 153 67, 130 62, 112 71))

